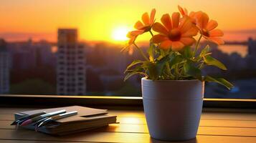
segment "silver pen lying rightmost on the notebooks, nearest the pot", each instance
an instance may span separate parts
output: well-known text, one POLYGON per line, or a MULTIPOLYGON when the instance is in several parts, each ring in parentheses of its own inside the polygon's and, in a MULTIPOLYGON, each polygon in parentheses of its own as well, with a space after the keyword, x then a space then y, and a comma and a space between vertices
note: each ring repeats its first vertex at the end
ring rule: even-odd
POLYGON ((39 127, 42 127, 44 126, 45 124, 47 124, 48 122, 51 122, 51 121, 56 121, 57 119, 62 119, 62 118, 65 118, 65 117, 70 117, 70 116, 73 116, 77 114, 77 111, 74 111, 74 112, 67 112, 67 113, 64 113, 64 114, 58 114, 58 115, 55 115, 53 117, 47 117, 46 119, 44 119, 42 122, 39 123, 38 126, 36 126, 36 128, 39 128, 39 127))

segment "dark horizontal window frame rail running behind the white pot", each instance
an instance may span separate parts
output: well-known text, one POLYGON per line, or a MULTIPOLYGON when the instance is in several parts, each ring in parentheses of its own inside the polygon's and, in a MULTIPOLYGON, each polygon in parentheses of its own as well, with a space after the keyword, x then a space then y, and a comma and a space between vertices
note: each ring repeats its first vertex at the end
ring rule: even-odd
MULTIPOLYGON (((63 96, 63 95, 21 95, 1 94, 3 106, 67 106, 82 105, 89 107, 143 107, 142 97, 109 96, 63 96)), ((204 99, 203 107, 256 109, 256 99, 204 99)))

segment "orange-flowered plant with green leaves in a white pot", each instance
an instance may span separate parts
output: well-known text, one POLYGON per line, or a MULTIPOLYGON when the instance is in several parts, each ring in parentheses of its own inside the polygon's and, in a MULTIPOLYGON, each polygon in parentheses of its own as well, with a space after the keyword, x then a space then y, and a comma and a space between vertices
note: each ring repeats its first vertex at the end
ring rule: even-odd
POLYGON ((211 56, 209 46, 199 49, 202 38, 224 44, 217 21, 209 20, 203 11, 178 6, 180 12, 163 14, 155 21, 156 10, 144 13, 136 30, 128 33, 128 46, 138 49, 144 60, 133 61, 125 70, 125 80, 142 74, 143 107, 151 137, 179 141, 193 139, 199 127, 204 98, 204 82, 217 82, 228 89, 232 84, 222 78, 202 74, 205 66, 227 68, 211 56), (136 38, 151 34, 147 54, 138 47, 136 38), (197 40, 196 40, 197 39, 197 40))

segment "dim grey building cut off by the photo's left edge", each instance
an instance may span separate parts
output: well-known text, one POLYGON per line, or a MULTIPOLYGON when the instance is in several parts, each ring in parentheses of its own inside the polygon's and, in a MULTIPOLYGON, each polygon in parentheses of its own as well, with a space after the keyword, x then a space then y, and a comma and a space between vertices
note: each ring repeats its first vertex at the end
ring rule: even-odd
POLYGON ((10 55, 4 39, 0 39, 0 94, 9 93, 10 55))

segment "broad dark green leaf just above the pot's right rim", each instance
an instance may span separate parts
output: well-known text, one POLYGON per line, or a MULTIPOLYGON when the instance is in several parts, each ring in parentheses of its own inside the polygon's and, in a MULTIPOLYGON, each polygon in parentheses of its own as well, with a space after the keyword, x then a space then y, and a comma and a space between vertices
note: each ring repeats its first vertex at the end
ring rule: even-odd
POLYGON ((194 77, 196 79, 202 80, 201 70, 193 65, 192 62, 187 61, 184 64, 184 72, 185 74, 194 77))

